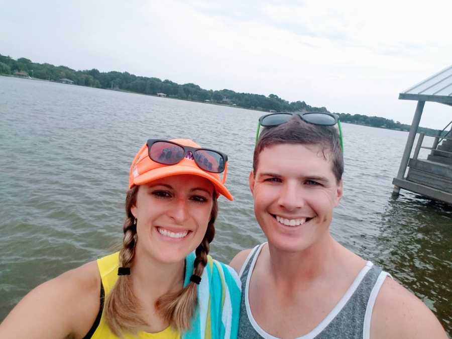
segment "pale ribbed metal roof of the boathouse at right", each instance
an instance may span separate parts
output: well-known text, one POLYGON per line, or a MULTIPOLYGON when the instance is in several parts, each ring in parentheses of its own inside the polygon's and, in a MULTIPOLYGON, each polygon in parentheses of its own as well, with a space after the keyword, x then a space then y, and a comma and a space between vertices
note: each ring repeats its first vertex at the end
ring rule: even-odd
POLYGON ((435 101, 452 106, 452 66, 400 93, 399 99, 435 101))

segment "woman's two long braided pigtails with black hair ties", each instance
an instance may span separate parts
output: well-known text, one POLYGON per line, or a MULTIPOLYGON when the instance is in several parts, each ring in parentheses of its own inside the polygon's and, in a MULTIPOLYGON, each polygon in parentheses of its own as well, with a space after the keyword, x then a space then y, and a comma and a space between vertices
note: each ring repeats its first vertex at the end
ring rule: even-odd
MULTIPOLYGON (((138 189, 139 186, 134 186, 127 192, 126 196, 126 219, 123 225, 124 239, 123 247, 119 254, 120 267, 131 267, 135 255, 137 225, 131 208, 137 202, 138 189)), ((207 264, 209 244, 215 235, 214 222, 217 212, 216 193, 213 192, 213 205, 207 230, 201 244, 195 251, 196 259, 193 264, 193 274, 198 276, 202 275, 207 264)), ((197 284, 190 282, 180 291, 161 296, 156 302, 156 308, 170 326, 178 331, 186 330, 190 328, 196 307, 196 293, 197 284)), ((103 314, 111 332, 119 337, 124 332, 137 333, 141 328, 148 325, 147 321, 140 315, 140 301, 133 292, 130 275, 118 276, 115 286, 105 297, 103 314)))

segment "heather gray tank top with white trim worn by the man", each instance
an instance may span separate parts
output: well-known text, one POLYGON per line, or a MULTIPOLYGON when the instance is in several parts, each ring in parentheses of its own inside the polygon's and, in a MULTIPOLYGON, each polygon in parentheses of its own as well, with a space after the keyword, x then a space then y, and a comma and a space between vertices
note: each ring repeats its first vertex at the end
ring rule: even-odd
MULTIPOLYGON (((248 301, 251 275, 264 245, 258 245, 250 252, 240 272, 242 304, 240 307, 239 339, 278 339, 259 326, 251 313, 248 301)), ((297 339, 369 339, 372 309, 381 285, 388 275, 381 268, 367 262, 346 294, 331 312, 312 331, 297 339)))

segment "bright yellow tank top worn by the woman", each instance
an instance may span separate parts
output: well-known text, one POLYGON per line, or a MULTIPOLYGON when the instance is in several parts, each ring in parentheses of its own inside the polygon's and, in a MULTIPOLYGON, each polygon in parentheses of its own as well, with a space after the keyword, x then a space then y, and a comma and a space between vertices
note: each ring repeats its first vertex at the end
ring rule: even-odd
MULTIPOLYGON (((102 279, 103 289, 105 295, 111 291, 118 279, 118 260, 119 252, 110 254, 109 256, 97 260, 97 267, 99 268, 100 278, 102 279)), ((119 339, 118 336, 111 333, 110 328, 102 316, 99 325, 91 336, 92 339, 119 339)), ((139 332, 138 335, 125 335, 125 339, 141 338, 141 339, 180 339, 180 333, 171 327, 165 328, 158 333, 139 332)))

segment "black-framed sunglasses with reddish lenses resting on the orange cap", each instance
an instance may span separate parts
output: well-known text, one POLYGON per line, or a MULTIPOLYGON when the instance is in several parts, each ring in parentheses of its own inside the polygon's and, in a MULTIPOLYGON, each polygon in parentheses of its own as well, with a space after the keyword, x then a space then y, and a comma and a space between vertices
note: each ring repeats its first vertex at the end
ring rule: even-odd
POLYGON ((164 165, 175 165, 182 159, 189 158, 206 172, 221 173, 228 161, 228 156, 224 153, 207 148, 179 145, 167 140, 149 139, 147 145, 149 158, 164 165))

